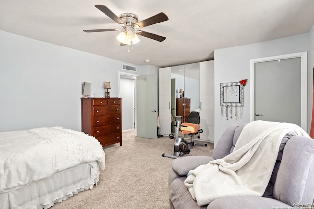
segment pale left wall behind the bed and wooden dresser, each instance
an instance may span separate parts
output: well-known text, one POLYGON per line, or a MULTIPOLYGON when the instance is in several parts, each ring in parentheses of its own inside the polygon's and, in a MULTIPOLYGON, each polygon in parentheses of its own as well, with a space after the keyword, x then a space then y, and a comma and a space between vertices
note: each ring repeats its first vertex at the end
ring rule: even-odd
MULTIPOLYGON (((0 131, 81 131, 82 83, 91 82, 92 93, 104 97, 109 81, 110 97, 118 97, 118 71, 132 73, 122 63, 0 31, 0 131)), ((140 74, 141 66, 133 66, 140 74)))

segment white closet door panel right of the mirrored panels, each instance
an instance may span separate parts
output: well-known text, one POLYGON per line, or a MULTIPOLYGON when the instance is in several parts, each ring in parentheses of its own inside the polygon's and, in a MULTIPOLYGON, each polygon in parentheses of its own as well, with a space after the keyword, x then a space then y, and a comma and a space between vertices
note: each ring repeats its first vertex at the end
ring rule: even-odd
POLYGON ((214 61, 200 62, 200 139, 214 142, 214 61))

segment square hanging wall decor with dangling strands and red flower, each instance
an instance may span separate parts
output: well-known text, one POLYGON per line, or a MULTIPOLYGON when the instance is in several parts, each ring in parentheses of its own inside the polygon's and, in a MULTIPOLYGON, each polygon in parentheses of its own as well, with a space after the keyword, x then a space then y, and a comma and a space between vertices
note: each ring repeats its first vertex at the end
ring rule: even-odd
POLYGON ((234 116, 235 120, 242 118, 243 86, 246 85, 246 82, 247 79, 233 83, 220 83, 221 116, 226 116, 227 120, 234 116))

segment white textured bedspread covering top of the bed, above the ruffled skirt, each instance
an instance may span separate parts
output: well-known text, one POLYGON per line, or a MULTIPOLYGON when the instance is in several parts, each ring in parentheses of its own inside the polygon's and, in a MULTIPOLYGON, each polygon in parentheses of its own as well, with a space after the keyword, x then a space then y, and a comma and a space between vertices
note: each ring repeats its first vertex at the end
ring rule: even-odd
POLYGON ((82 132, 61 127, 0 132, 0 193, 80 163, 93 165, 97 182, 99 168, 93 161, 105 169, 102 146, 82 132))

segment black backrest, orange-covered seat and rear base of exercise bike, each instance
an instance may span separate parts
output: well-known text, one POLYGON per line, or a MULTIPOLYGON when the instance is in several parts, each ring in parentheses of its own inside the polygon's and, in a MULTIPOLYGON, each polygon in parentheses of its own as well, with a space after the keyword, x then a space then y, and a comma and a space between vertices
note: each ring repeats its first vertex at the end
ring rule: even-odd
POLYGON ((187 117, 187 122, 186 123, 182 123, 182 127, 181 127, 181 132, 185 135, 190 135, 191 136, 191 142, 189 143, 190 146, 189 148, 192 148, 196 145, 199 146, 207 146, 207 144, 204 143, 194 143, 194 135, 197 135, 198 133, 202 133, 203 130, 198 128, 197 130, 194 130, 194 132, 191 131, 184 131, 184 126, 188 126, 188 123, 193 123, 193 124, 200 124, 200 114, 196 111, 192 111, 190 112, 190 115, 187 117), (195 132, 196 131, 196 132, 195 132))

